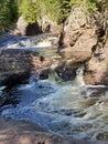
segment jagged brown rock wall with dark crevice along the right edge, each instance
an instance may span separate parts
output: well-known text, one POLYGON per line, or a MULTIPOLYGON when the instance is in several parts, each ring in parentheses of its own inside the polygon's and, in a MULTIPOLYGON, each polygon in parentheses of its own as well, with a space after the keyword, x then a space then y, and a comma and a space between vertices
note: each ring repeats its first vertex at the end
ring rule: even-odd
POLYGON ((97 43, 91 48, 91 58, 85 64, 84 80, 86 84, 108 85, 108 23, 104 16, 97 17, 96 35, 97 43))

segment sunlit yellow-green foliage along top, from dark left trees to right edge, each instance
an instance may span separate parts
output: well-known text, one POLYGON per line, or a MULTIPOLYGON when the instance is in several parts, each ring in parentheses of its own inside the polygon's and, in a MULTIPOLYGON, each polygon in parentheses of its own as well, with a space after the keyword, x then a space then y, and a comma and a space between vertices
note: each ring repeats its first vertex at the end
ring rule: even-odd
POLYGON ((33 23, 39 17, 47 14, 52 20, 63 22, 74 4, 87 4, 89 12, 105 9, 107 0, 20 0, 20 13, 33 23))

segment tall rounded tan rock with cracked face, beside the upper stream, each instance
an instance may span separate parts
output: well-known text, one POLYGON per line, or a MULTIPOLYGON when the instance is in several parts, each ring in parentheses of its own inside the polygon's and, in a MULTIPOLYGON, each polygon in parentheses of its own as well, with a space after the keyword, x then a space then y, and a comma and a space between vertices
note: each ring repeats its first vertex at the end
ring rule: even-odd
POLYGON ((85 14, 86 6, 72 7, 60 37, 60 53, 68 60, 85 61, 91 55, 91 48, 97 42, 95 20, 85 14))

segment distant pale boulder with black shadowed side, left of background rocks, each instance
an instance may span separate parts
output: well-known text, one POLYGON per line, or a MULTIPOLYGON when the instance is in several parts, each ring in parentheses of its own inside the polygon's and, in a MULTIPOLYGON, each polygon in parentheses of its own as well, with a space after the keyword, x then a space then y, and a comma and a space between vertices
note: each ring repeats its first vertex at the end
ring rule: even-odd
POLYGON ((23 17, 20 17, 18 19, 17 29, 14 31, 21 35, 35 35, 42 33, 42 30, 39 27, 37 22, 31 24, 26 22, 26 20, 23 17))

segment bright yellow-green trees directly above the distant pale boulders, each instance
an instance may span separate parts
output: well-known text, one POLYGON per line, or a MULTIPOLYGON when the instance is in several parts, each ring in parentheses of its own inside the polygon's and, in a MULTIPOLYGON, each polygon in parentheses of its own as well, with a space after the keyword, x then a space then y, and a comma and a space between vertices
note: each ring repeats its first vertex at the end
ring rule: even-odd
POLYGON ((20 13, 28 22, 33 23, 39 17, 47 14, 52 20, 58 21, 62 19, 61 0, 23 0, 20 6, 20 13))

